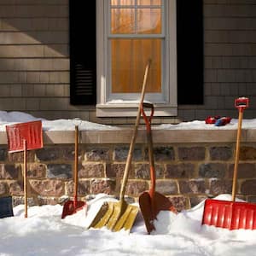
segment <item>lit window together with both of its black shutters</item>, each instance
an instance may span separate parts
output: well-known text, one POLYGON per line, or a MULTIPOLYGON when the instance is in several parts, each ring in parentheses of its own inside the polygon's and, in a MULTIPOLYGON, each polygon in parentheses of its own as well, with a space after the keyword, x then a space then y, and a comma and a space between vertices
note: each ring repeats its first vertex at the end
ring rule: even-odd
POLYGON ((70 103, 134 115, 150 55, 146 99, 156 114, 202 104, 202 13, 202 0, 70 0, 70 103))

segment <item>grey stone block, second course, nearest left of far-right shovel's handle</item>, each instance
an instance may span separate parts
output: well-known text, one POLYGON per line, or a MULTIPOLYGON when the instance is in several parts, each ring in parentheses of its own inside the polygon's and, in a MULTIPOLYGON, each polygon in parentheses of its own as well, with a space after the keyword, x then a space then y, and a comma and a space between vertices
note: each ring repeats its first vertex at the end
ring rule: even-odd
POLYGON ((227 165, 222 163, 207 163, 199 166, 199 177, 218 177, 226 176, 227 165))

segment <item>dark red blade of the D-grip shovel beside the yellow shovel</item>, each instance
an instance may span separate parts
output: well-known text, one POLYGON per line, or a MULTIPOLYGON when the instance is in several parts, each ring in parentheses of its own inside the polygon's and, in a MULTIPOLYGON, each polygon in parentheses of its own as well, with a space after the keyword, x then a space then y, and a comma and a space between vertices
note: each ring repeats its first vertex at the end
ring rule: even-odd
POLYGON ((149 192, 143 192, 143 194, 139 197, 139 205, 148 234, 155 230, 154 219, 157 219, 156 217, 160 211, 171 211, 177 213, 177 210, 175 207, 173 207, 172 202, 169 201, 165 195, 162 195, 156 191, 154 191, 154 199, 151 198, 149 192))

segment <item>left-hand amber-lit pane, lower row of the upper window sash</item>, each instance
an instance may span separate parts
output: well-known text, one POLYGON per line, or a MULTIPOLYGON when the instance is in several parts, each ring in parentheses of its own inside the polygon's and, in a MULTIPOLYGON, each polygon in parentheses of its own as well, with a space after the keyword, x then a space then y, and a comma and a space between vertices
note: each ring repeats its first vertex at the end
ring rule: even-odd
POLYGON ((113 34, 135 33, 134 9, 111 9, 111 32, 113 34))

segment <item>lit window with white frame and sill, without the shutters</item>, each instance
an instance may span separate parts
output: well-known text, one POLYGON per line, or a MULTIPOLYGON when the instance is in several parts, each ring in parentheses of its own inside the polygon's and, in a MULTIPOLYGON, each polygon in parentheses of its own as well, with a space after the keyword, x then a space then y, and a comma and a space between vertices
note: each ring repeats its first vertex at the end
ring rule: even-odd
POLYGON ((177 115, 176 1, 97 0, 97 116, 132 116, 148 58, 145 99, 177 115))

